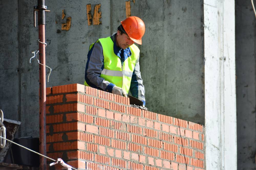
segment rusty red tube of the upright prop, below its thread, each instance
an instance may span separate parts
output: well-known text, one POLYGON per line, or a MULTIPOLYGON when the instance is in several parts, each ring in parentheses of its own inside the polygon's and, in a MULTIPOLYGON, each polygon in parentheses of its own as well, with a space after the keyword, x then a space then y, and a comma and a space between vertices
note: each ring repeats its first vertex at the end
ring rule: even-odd
MULTIPOLYGON (((45 43, 45 25, 39 25, 39 41, 45 43)), ((45 65, 45 44, 39 42, 39 61, 45 65)), ((39 64, 39 140, 40 153, 46 155, 46 75, 45 66, 39 64)), ((46 158, 40 156, 40 170, 46 169, 46 158)))

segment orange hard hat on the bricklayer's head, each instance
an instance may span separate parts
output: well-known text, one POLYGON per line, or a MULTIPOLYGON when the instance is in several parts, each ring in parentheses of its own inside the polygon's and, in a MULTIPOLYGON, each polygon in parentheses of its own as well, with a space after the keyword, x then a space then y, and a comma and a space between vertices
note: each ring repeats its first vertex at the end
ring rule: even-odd
POLYGON ((128 17, 121 21, 127 35, 137 44, 142 44, 141 38, 145 33, 145 24, 139 17, 128 17))

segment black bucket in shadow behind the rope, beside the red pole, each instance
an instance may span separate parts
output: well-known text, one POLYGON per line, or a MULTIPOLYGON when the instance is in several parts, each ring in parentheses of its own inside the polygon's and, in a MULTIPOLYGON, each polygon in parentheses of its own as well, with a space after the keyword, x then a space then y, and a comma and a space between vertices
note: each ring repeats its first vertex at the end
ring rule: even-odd
MULTIPOLYGON (((39 152, 39 138, 32 138, 32 136, 30 136, 24 138, 15 138, 13 141, 33 151, 39 152)), ((39 167, 40 161, 38 154, 15 144, 12 144, 12 152, 14 164, 39 167)))

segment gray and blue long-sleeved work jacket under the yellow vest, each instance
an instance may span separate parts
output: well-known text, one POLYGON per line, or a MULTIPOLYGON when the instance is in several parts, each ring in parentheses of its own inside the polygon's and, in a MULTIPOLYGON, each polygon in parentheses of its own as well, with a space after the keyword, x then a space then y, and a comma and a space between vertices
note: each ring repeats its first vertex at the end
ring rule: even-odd
MULTIPOLYGON (((120 58, 121 62, 123 63, 126 58, 131 56, 131 49, 130 47, 126 49, 122 49, 116 45, 115 42, 115 33, 111 36, 112 41, 114 42, 113 50, 117 57, 120 58)), ((100 77, 101 71, 104 68, 104 56, 103 56, 103 48, 100 42, 94 43, 93 47, 89 50, 87 55, 88 60, 85 69, 85 80, 87 84, 93 88, 97 88, 100 90, 112 92, 113 87, 115 84, 104 80, 104 78, 100 77)), ((136 60, 135 68, 132 74, 130 92, 132 96, 140 99, 143 101, 145 105, 145 97, 144 97, 144 86, 143 81, 141 78, 140 72, 140 64, 139 64, 139 57, 136 60)))

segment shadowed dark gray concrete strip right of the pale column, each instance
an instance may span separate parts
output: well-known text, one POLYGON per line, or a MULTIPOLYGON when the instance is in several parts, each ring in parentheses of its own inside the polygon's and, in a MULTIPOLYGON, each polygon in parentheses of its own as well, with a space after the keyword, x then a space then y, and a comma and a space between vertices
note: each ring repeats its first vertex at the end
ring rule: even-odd
POLYGON ((255 17, 251 1, 236 1, 236 75, 237 169, 252 170, 256 169, 256 99, 255 17))

